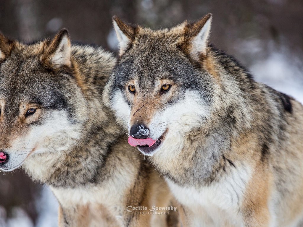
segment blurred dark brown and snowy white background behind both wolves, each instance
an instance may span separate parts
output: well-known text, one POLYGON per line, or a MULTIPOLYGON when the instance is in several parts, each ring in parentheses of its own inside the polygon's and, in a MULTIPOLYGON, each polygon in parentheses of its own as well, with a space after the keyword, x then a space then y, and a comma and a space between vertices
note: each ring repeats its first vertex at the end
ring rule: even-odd
MULTIPOLYGON (((0 30, 33 41, 67 28, 74 41, 117 52, 112 16, 165 28, 213 14, 211 43, 234 55, 255 79, 303 103, 302 0, 10 0, 0 1, 0 30)), ((23 170, 0 173, 0 227, 57 226, 58 204, 23 170)))

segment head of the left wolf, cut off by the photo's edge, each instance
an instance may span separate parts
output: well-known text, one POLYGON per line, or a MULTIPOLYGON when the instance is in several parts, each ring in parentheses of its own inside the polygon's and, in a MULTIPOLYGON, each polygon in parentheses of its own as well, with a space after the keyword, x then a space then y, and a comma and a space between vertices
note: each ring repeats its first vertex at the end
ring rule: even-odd
POLYGON ((0 169, 65 150, 80 136, 85 103, 74 74, 67 30, 34 44, 0 34, 0 169))

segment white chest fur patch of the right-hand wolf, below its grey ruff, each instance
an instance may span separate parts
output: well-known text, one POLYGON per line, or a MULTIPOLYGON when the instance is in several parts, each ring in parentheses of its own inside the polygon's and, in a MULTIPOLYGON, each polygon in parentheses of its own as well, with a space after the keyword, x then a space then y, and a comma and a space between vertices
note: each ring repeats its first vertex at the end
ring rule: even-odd
POLYGON ((225 226, 226 221, 232 226, 243 226, 238 206, 250 174, 247 166, 237 166, 218 183, 201 189, 166 181, 175 198, 195 214, 192 226, 225 226))

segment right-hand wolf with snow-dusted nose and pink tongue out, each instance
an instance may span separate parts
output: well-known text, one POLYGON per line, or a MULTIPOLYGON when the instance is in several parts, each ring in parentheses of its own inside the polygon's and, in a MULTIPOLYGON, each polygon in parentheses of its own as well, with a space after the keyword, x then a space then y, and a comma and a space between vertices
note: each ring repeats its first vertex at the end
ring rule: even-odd
POLYGON ((211 45, 211 20, 152 30, 115 16, 104 100, 165 176, 183 226, 297 226, 303 107, 211 45))

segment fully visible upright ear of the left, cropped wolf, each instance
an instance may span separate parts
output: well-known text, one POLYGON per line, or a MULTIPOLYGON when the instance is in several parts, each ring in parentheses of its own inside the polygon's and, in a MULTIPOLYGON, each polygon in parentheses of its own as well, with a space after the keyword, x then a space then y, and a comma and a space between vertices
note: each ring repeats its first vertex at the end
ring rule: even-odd
POLYGON ((45 42, 42 62, 53 69, 71 66, 71 41, 66 29, 59 31, 55 38, 45 42))

